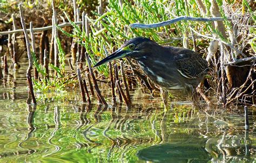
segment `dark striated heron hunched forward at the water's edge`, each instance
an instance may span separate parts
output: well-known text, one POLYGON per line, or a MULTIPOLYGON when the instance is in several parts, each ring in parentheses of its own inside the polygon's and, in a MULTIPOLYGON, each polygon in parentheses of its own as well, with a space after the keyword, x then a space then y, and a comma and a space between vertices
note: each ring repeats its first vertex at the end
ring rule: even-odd
POLYGON ((181 47, 160 46, 143 37, 126 41, 94 67, 126 57, 138 61, 145 74, 160 87, 165 107, 168 90, 183 89, 192 94, 208 72, 208 62, 196 52, 181 47))

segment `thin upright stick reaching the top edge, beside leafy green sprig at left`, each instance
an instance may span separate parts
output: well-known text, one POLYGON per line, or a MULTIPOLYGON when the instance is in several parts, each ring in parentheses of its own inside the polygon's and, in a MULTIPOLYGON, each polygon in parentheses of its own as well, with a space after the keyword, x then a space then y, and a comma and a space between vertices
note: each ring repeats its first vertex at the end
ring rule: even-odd
MULTIPOLYGON (((57 15, 55 10, 54 1, 52 1, 52 13, 53 13, 53 26, 54 26, 54 65, 56 67, 59 66, 59 57, 58 57, 58 46, 57 46, 57 38, 58 38, 58 31, 57 31, 57 15)), ((57 71, 55 70, 55 76, 57 76, 57 71)))

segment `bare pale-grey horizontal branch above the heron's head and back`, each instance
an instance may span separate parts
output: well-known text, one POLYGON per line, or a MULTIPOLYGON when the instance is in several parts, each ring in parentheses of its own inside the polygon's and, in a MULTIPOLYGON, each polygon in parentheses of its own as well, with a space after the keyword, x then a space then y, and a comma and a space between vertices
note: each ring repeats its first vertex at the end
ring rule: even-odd
POLYGON ((130 26, 132 28, 139 28, 139 29, 154 29, 161 26, 170 25, 176 22, 180 22, 181 20, 191 20, 194 22, 213 22, 213 21, 224 21, 225 19, 222 17, 215 17, 215 18, 196 18, 196 17, 188 17, 188 16, 180 16, 171 20, 167 20, 160 23, 154 23, 154 24, 140 24, 140 23, 134 23, 130 26))

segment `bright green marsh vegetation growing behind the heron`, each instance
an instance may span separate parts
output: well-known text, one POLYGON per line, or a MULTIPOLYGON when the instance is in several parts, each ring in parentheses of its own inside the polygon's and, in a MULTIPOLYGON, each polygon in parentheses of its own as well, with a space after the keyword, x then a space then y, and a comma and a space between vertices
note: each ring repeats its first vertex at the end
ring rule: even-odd
MULTIPOLYGON (((30 3, 30 1, 25 1, 24 4, 26 8, 31 8, 31 5, 39 5, 39 1, 30 3)), ((48 6, 50 1, 47 1, 48 6)), ((218 31, 213 27, 211 22, 192 22, 192 21, 180 21, 175 24, 170 24, 163 27, 158 27, 156 29, 133 29, 130 27, 130 24, 133 23, 143 23, 143 24, 152 24, 163 22, 172 18, 179 16, 192 16, 192 17, 212 17, 211 16, 211 2, 209 0, 204 1, 205 13, 199 10, 197 1, 124 1, 122 5, 119 4, 118 0, 109 0, 108 3, 104 5, 104 13, 99 14, 95 10, 87 11, 86 19, 89 22, 89 29, 87 31, 83 29, 80 25, 75 24, 73 20, 72 5, 63 4, 61 1, 56 1, 56 5, 60 10, 58 10, 58 15, 65 16, 69 23, 71 23, 72 28, 66 27, 64 29, 57 26, 59 31, 64 33, 65 37, 70 37, 75 39, 80 46, 85 48, 86 53, 89 54, 92 66, 96 64, 97 61, 105 57, 104 46, 107 51, 110 53, 116 50, 120 45, 123 44, 125 40, 134 38, 134 37, 147 37, 156 41, 160 45, 171 45, 171 46, 184 46, 192 49, 193 46, 198 48, 198 52, 202 55, 203 58, 206 58, 207 48, 210 45, 211 39, 205 38, 202 36, 197 36, 196 40, 191 39, 190 27, 204 36, 213 36, 226 44, 233 45, 234 48, 237 48, 241 51, 244 46, 247 46, 247 43, 250 45, 250 49, 247 53, 247 56, 254 56, 255 52, 256 38, 255 38, 255 26, 251 27, 239 27, 238 37, 242 37, 245 41, 239 41, 237 44, 233 44, 232 35, 233 32, 233 22, 231 23, 230 18, 232 12, 238 13, 237 19, 238 25, 242 22, 243 17, 245 16, 255 22, 256 16, 254 15, 255 11, 251 8, 252 4, 248 3, 245 0, 242 1, 217 1, 219 11, 221 16, 225 19, 225 33, 227 37, 224 37, 221 31, 218 31), (70 5, 70 6, 69 6, 70 5), (232 12, 228 13, 227 11, 231 10, 232 12), (229 15, 228 15, 229 14, 229 15), (89 16, 90 15, 90 16, 89 16), (240 22, 239 22, 240 21, 240 22), (248 31, 248 37, 246 34, 243 34, 243 31, 248 31), (196 44, 195 44, 196 43, 196 44), (195 45, 193 45, 195 44, 195 45)), ((4 5, 8 5, 5 4, 4 5)), ((82 3, 78 3, 80 9, 84 9, 82 3)), ((65 19, 63 18, 63 19, 65 19)), ((244 23, 244 22, 242 22, 244 23)), ((57 76, 51 76, 52 78, 47 81, 46 79, 41 81, 33 80, 38 90, 47 90, 48 88, 59 87, 60 89, 65 88, 65 86, 60 86, 62 84, 72 84, 73 80, 67 81, 70 79, 70 72, 66 66, 66 54, 67 52, 62 48, 62 42, 57 39, 58 51, 59 51, 59 66, 49 65, 51 70, 57 72, 57 76), (37 82, 37 83, 36 83, 37 82), (57 82, 57 83, 56 83, 57 82), (48 87, 48 84, 51 83, 51 87, 48 87)), ((84 54, 81 54, 84 55, 84 54)), ((218 54, 217 54, 218 55, 218 54)), ((230 54, 228 52, 227 57, 225 58, 226 62, 229 62, 228 58, 234 59, 234 56, 239 58, 238 53, 230 54), (230 57, 232 55, 232 57, 230 57)), ((215 61, 215 67, 217 67, 218 72, 212 72, 212 81, 219 84, 219 67, 220 61, 219 58, 215 61)), ((118 62, 118 61, 116 61, 118 62)), ((35 56, 33 56, 33 64, 38 69, 39 73, 42 76, 45 76, 45 70, 39 65, 35 56)), ((86 65, 86 62, 84 62, 86 65)), ((118 63, 119 64, 119 63, 118 63)), ((76 66, 76 65, 73 65, 76 66)), ((130 69, 129 64, 125 61, 125 67, 130 69)), ((86 68, 85 68, 86 69, 86 68)), ((96 68, 99 75, 103 75, 104 79, 109 78, 109 66, 102 65, 96 68)), ((73 78, 72 78, 73 79, 73 78)), ((138 82, 140 83, 140 82, 138 82)), ((142 84, 143 85, 143 84, 142 84)), ((215 88, 214 88, 215 89, 215 88)), ((57 90, 57 89, 53 89, 57 90)), ((59 90, 59 89, 58 89, 59 90)))

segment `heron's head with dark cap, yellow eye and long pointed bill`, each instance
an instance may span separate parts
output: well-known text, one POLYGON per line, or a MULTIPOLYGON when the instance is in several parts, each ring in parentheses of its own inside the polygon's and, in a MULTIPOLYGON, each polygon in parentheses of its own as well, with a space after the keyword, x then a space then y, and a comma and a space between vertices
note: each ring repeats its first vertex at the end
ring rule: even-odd
POLYGON ((113 52, 103 60, 99 61, 96 63, 95 66, 97 67, 100 65, 103 65, 104 63, 110 62, 112 60, 120 59, 120 58, 125 58, 125 57, 131 57, 131 58, 138 58, 139 56, 144 56, 146 55, 152 46, 157 46, 156 42, 151 41, 148 38, 143 38, 143 37, 137 37, 130 39, 124 44, 117 49, 117 51, 113 52))

